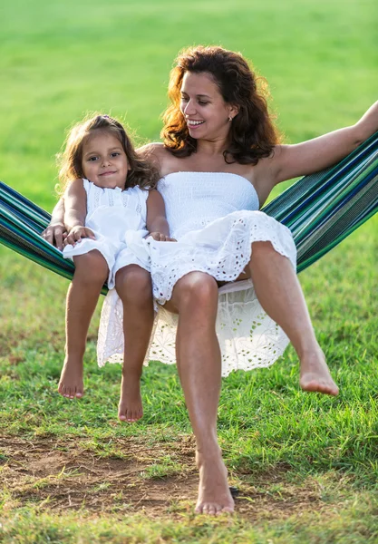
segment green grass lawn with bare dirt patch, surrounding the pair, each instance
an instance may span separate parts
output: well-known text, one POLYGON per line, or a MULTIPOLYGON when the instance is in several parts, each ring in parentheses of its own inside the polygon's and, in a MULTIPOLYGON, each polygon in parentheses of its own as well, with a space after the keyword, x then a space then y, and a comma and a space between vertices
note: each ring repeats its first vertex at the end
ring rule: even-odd
MULTIPOLYGON (((376 100, 374 0, 142 0, 0 6, 0 179, 46 209, 54 155, 87 111, 158 140, 170 66, 222 44, 267 77, 286 141, 356 121, 376 100)), ((375 217, 300 275, 341 393, 305 394, 296 355, 223 382, 219 441, 239 488, 232 518, 195 517, 194 442, 176 368, 152 362, 145 415, 117 421, 121 368, 95 362, 86 394, 56 393, 67 282, 0 247, 0 541, 375 543, 378 293, 375 217)))

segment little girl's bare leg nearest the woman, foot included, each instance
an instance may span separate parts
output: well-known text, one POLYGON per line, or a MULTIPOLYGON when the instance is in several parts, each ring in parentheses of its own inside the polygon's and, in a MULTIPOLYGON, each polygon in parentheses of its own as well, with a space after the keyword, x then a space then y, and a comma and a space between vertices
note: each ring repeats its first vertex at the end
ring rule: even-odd
POLYGON ((118 415, 131 423, 143 415, 141 370, 153 325, 150 274, 138 265, 123 267, 116 274, 115 288, 123 305, 125 345, 118 415))

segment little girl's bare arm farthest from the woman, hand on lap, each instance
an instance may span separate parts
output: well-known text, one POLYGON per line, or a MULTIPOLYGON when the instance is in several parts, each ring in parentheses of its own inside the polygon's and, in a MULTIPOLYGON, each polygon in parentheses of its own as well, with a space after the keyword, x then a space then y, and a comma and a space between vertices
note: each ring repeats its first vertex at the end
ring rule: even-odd
POLYGON ((81 238, 95 239, 92 230, 85 227, 86 214, 87 193, 82 180, 74 180, 64 193, 64 227, 68 232, 64 246, 74 245, 81 238))

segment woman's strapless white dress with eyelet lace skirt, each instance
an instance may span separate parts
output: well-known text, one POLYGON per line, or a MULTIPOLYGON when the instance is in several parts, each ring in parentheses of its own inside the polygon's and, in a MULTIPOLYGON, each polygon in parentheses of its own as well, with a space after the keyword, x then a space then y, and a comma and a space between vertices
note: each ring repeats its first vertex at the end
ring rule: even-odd
MULTIPOLYGON (((160 180, 170 236, 148 238, 153 294, 159 305, 170 299, 180 277, 199 270, 228 282, 218 290, 217 335, 222 375, 268 366, 282 355, 288 339, 267 316, 250 279, 235 281, 250 260, 253 242, 270 241, 296 268, 296 246, 288 228, 258 211, 257 192, 245 178, 223 172, 176 172, 160 180)), ((178 316, 158 306, 148 360, 175 363, 178 316)), ((98 361, 123 358, 122 306, 115 290, 106 296, 100 325, 98 361)))

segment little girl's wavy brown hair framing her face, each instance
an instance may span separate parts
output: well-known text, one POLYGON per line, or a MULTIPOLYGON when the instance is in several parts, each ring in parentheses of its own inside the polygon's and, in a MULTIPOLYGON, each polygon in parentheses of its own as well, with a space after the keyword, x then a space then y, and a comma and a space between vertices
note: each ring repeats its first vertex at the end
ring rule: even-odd
POLYGON ((141 189, 155 189, 159 180, 159 172, 146 160, 137 155, 131 139, 120 121, 97 113, 78 122, 69 132, 63 144, 63 153, 57 155, 60 165, 58 192, 62 193, 67 185, 77 178, 83 178, 82 147, 91 138, 94 131, 111 132, 120 142, 129 163, 130 170, 126 178, 125 189, 138 185, 141 189))

